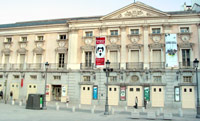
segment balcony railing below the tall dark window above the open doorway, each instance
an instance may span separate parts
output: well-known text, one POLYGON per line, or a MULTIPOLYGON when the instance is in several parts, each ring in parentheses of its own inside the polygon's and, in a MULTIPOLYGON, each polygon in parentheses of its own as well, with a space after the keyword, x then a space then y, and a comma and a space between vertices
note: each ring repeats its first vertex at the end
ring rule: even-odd
POLYGON ((48 70, 67 70, 66 63, 49 63, 48 70))

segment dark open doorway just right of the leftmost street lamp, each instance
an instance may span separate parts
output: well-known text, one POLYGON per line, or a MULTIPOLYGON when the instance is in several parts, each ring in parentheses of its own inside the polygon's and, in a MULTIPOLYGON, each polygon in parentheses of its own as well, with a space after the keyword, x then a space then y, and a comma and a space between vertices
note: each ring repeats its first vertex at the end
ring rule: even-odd
POLYGON ((52 85, 53 101, 61 101, 61 85, 52 85))

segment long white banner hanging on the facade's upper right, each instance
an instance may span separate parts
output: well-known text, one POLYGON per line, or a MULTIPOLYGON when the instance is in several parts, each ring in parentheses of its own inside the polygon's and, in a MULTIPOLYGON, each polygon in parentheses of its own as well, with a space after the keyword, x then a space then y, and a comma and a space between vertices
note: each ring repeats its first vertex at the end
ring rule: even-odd
POLYGON ((166 67, 178 67, 177 36, 165 34, 166 67))

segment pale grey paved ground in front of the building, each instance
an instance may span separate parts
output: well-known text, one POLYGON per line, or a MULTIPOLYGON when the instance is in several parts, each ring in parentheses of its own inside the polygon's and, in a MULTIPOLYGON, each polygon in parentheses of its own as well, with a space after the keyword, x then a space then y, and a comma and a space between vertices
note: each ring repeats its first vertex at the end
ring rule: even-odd
MULTIPOLYGON (((56 110, 55 103, 49 103, 47 110, 30 110, 25 109, 25 106, 19 106, 18 104, 11 105, 0 102, 0 121, 147 121, 148 119, 133 119, 131 112, 133 109, 129 107, 127 111, 123 107, 114 107, 115 113, 113 115, 104 115, 104 107, 96 106, 95 113, 92 114, 90 108, 92 106, 81 106, 78 109, 78 105, 70 104, 67 108, 65 104, 59 103, 60 110, 56 110), (72 112, 72 107, 76 107, 76 112, 72 112)), ((145 112, 142 109, 136 110, 142 115, 146 115, 147 112, 156 112, 159 109, 152 108, 147 109, 145 112)), ((195 118, 195 110, 183 110, 183 117, 179 117, 177 110, 164 109, 163 112, 172 112, 173 120, 175 121, 200 121, 195 118)), ((162 114, 161 116, 162 117, 162 114)), ((161 120, 158 119, 158 120, 161 120)))

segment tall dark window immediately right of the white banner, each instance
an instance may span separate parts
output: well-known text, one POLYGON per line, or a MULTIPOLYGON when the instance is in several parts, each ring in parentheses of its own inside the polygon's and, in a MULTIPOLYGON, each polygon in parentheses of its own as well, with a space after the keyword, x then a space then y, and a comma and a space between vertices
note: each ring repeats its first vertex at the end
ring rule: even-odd
POLYGON ((190 66, 190 49, 182 49, 182 66, 190 66))

